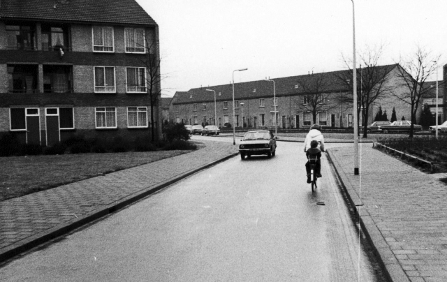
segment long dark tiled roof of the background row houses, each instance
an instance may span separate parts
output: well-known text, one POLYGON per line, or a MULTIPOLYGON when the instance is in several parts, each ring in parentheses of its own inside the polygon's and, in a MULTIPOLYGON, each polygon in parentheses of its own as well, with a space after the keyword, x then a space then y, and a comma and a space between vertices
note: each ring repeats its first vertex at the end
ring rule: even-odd
MULTIPOLYGON (((395 65, 377 66, 379 71, 390 71, 395 65)), ((309 94, 309 91, 303 87, 305 84, 311 84, 312 80, 324 80, 325 82, 318 89, 320 93, 347 91, 346 82, 340 80, 340 77, 351 77, 352 71, 333 71, 328 73, 314 73, 307 75, 295 75, 290 77, 274 78, 276 96, 309 94)), ((193 88, 189 91, 177 91, 176 99, 173 104, 200 103, 214 101, 212 89, 216 91, 217 101, 230 101, 233 99, 233 84, 223 84, 210 87, 193 88)), ((235 99, 247 98, 272 98, 273 82, 265 80, 256 80, 251 82, 235 83, 235 99)))

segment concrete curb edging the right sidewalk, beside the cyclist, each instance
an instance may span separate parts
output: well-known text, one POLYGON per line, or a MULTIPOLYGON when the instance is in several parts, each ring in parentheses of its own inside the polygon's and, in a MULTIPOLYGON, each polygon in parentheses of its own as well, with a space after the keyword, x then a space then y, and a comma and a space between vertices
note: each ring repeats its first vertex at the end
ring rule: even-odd
POLYGON ((356 215, 360 219, 360 226, 369 242, 371 242, 374 253, 379 258, 379 263, 381 263, 382 268, 385 270, 388 279, 393 282, 410 282, 379 228, 377 228, 376 223, 374 223, 372 216, 367 209, 362 209, 363 204, 361 199, 358 197, 356 190, 349 184, 348 177, 343 170, 337 170, 339 163, 336 164, 337 161, 333 158, 330 150, 328 150, 328 161, 332 164, 339 183, 342 185, 344 191, 346 191, 348 200, 351 202, 356 215))

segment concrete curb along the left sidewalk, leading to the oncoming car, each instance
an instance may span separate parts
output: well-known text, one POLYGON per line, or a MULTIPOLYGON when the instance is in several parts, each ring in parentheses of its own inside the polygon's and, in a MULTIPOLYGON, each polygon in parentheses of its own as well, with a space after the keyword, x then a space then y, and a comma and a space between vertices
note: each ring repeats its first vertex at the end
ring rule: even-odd
POLYGON ((58 225, 54 228, 50 228, 43 232, 39 232, 38 234, 28 237, 27 239, 23 239, 20 242, 17 242, 11 246, 6 247, 4 251, 1 251, 0 262, 9 260, 9 259, 13 258, 15 255, 19 255, 20 253, 23 253, 24 251, 29 251, 31 248, 34 248, 40 244, 50 241, 51 239, 54 239, 61 235, 64 235, 68 232, 71 232, 72 230, 75 230, 76 228, 80 228, 82 225, 86 225, 87 223, 90 223, 91 221, 95 221, 98 218, 101 218, 103 216, 111 214, 114 211, 117 211, 117 210, 122 209, 126 206, 129 206, 129 205, 133 204, 134 202, 137 202, 138 200, 145 198, 146 196, 151 195, 151 194, 155 193, 156 191, 166 188, 167 186, 170 186, 179 180, 189 177, 190 175, 200 172, 201 170, 205 170, 206 168, 210 168, 214 165, 217 165, 218 163, 226 161, 229 158, 233 158, 234 156, 237 156, 238 154, 239 153, 229 154, 228 156, 220 158, 216 161, 206 163, 205 165, 200 166, 200 168, 195 168, 193 170, 189 170, 188 172, 184 172, 180 175, 177 175, 176 177, 173 177, 171 179, 163 181, 159 184, 144 188, 136 193, 128 195, 120 200, 117 200, 110 205, 98 207, 98 209, 91 211, 84 216, 73 218, 73 220, 71 220, 68 223, 63 223, 63 224, 58 225))

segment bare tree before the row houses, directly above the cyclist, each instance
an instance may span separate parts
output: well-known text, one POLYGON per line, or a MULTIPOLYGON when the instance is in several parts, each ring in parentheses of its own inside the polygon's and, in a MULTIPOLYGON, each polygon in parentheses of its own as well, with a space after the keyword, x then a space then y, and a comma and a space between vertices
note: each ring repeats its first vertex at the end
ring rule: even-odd
POLYGON ((316 124, 316 116, 318 112, 325 112, 336 107, 332 103, 328 103, 328 98, 330 97, 332 84, 328 80, 327 73, 316 73, 312 75, 302 75, 298 77, 298 87, 300 87, 300 92, 305 93, 304 96, 298 97, 302 98, 302 101, 295 100, 295 107, 301 108, 303 112, 312 113, 312 121, 316 124))

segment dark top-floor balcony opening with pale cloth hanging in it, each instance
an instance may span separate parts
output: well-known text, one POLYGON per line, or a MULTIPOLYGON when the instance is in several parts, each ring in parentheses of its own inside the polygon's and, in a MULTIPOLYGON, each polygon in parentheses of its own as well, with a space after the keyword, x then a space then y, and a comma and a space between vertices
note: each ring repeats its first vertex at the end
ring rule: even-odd
POLYGON ((69 48, 69 27, 58 24, 42 24, 42 50, 68 51, 69 48))

